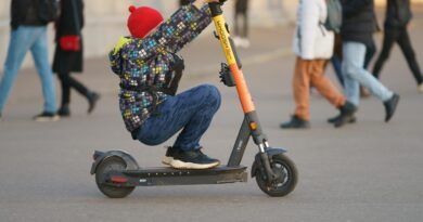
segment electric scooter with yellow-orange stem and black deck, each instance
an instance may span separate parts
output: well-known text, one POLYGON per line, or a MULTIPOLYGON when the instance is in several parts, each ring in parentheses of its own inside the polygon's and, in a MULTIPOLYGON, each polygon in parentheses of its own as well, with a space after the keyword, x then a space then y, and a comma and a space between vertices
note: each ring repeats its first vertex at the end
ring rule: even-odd
POLYGON ((251 169, 251 175, 255 177, 258 187, 274 197, 285 196, 294 191, 298 177, 297 169, 285 155, 286 151, 271 147, 262 132, 241 70, 240 58, 222 14, 221 6, 225 1, 209 3, 216 27, 215 36, 220 40, 228 63, 221 65, 220 78, 226 86, 236 88, 244 112, 244 120, 228 164, 205 170, 170 167, 140 168, 136 159, 123 151, 95 151, 91 174, 95 174, 95 183, 105 196, 123 198, 129 195, 136 186, 246 182, 246 167, 240 164, 249 138, 253 138, 258 146, 258 153, 251 169))

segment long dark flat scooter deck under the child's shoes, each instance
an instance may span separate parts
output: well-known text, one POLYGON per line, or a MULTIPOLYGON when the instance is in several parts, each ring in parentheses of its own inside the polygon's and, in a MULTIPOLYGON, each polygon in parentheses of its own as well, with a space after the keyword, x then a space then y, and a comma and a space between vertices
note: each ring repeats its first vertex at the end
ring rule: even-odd
MULTIPOLYGON (((189 185, 189 184, 221 184, 246 182, 246 167, 219 166, 205 170, 182 170, 170 167, 140 168, 111 172, 112 178, 125 178, 125 186, 154 186, 154 185, 189 185)), ((108 185, 108 182, 106 182, 108 185)), ((116 184, 117 185, 117 184, 116 184)), ((124 185, 124 184, 120 184, 124 185)))

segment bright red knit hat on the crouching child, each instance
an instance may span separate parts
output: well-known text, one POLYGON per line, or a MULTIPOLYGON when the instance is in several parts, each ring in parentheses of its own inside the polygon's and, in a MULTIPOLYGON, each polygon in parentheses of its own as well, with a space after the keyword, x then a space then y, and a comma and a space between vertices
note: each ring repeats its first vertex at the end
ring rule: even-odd
POLYGON ((150 6, 129 6, 131 13, 127 26, 134 38, 144 38, 152 29, 163 22, 162 14, 150 6))

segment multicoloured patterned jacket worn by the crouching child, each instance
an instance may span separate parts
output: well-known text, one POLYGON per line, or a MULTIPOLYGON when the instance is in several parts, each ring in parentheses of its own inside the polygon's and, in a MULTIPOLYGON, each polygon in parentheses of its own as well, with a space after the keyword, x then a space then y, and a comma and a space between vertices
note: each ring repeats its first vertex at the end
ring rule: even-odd
POLYGON ((208 5, 189 4, 143 39, 123 37, 108 54, 112 70, 120 78, 119 107, 125 126, 133 132, 154 107, 168 96, 166 89, 177 66, 176 54, 211 22, 208 5), (145 90, 145 89, 158 90, 145 90))

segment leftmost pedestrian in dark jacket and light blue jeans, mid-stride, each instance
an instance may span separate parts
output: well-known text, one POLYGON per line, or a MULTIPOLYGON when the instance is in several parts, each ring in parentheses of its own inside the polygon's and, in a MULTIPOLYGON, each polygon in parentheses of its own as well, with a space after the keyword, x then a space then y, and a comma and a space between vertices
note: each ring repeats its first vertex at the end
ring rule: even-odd
POLYGON ((42 95, 44 99, 43 112, 35 116, 34 119, 36 121, 59 120, 53 74, 48 57, 48 22, 40 18, 38 10, 39 4, 36 1, 12 0, 12 31, 3 67, 3 76, 0 81, 0 118, 24 57, 30 51, 37 74, 41 79, 42 95))

